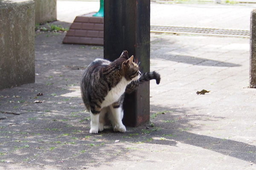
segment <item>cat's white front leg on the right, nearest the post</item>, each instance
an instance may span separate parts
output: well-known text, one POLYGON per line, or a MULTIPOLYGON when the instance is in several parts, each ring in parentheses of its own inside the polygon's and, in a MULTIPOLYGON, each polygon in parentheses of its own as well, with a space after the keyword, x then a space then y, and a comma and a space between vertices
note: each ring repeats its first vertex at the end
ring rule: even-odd
POLYGON ((113 130, 115 132, 119 131, 124 133, 126 131, 126 128, 125 128, 125 125, 123 125, 122 123, 122 115, 123 115, 122 108, 121 107, 113 108, 113 105, 111 105, 109 109, 110 109, 109 119, 113 124, 113 130))

